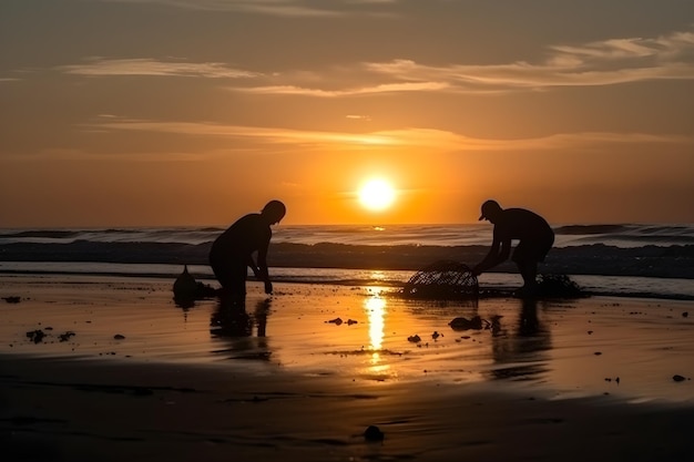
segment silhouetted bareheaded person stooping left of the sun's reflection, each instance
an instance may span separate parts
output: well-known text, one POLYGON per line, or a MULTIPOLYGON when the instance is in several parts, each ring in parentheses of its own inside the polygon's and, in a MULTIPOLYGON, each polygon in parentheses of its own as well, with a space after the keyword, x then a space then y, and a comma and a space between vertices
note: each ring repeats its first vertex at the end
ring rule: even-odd
POLYGON ((241 217, 212 244, 210 265, 226 295, 242 298, 246 295, 247 267, 265 283, 265 294, 273 292, 267 271, 267 248, 273 237, 271 226, 286 214, 279 201, 268 202, 259 214, 241 217), (257 265, 253 254, 257 251, 257 265))

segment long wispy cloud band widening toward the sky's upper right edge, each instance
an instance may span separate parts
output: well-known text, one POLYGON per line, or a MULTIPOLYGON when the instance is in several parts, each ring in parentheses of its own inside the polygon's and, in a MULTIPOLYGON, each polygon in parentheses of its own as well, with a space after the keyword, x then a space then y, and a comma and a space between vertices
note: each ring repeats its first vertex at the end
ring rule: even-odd
MULTIPOLYGON (((268 75, 274 84, 236 89, 266 94, 336 97, 392 92, 499 93, 559 86, 615 85, 655 80, 694 80, 694 32, 654 39, 612 39, 550 47, 544 60, 492 65, 427 65, 398 59, 323 71, 323 82, 363 82, 319 88, 308 72, 268 75)), ((314 72, 315 73, 315 72, 314 72)))

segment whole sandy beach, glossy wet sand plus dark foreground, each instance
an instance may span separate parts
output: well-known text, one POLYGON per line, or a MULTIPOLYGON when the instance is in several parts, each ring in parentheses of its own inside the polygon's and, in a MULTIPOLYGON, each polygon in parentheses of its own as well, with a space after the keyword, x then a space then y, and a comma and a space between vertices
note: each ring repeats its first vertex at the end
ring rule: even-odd
POLYGON ((691 301, 171 284, 0 277, 3 461, 694 460, 691 301))

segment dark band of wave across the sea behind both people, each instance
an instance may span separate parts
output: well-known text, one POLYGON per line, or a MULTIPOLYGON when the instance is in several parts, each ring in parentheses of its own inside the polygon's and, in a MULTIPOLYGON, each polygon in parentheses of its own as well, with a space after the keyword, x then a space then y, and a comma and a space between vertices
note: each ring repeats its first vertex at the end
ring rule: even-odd
MULTIPOLYGON (((0 244, 2 261, 112 263, 143 265, 207 265, 210 243, 100 243, 0 244)), ((488 246, 417 246, 290 244, 271 245, 268 264, 287 268, 343 268, 367 270, 419 270, 441 259, 470 265, 480 261, 488 246)), ((554 247, 541 271, 568 275, 642 276, 694 279, 694 245, 623 248, 604 244, 554 247)), ((511 273, 510 261, 497 267, 511 273)))

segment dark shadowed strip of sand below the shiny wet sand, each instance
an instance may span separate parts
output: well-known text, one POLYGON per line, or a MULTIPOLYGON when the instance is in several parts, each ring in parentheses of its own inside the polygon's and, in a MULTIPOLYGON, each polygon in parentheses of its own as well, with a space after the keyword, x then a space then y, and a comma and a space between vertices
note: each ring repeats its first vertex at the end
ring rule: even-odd
POLYGON ((3 461, 694 460, 691 405, 17 358, 1 383, 3 461))

